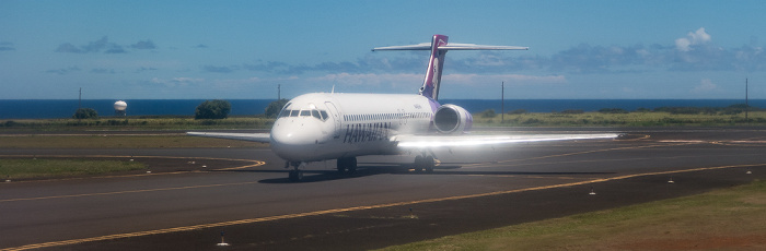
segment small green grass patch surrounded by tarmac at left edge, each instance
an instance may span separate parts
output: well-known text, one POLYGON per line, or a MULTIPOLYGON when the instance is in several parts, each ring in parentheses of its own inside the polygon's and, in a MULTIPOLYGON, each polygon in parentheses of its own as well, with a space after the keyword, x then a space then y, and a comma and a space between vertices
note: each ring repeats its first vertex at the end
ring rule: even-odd
POLYGON ((0 178, 31 179, 141 170, 138 162, 85 159, 0 159, 0 178))

